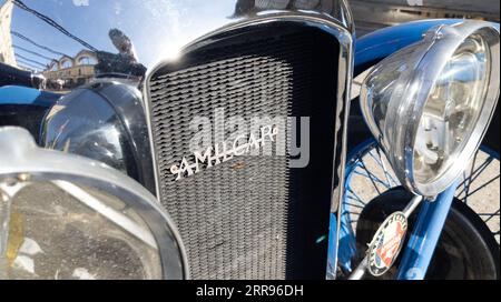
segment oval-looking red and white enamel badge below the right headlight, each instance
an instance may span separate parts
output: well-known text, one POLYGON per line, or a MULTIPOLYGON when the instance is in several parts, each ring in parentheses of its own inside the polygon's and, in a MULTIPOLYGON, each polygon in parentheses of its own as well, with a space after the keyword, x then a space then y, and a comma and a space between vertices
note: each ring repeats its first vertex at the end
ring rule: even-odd
POLYGON ((369 246, 369 272, 379 276, 393 265, 407 231, 404 213, 391 214, 375 233, 369 246))

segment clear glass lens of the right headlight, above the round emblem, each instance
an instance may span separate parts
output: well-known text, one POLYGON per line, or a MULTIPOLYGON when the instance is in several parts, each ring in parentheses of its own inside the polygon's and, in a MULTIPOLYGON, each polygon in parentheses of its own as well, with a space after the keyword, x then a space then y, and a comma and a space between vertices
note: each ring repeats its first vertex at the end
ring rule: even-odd
POLYGON ((425 102, 414 144, 414 179, 440 178, 464 149, 482 112, 489 51, 471 36, 450 58, 425 102))

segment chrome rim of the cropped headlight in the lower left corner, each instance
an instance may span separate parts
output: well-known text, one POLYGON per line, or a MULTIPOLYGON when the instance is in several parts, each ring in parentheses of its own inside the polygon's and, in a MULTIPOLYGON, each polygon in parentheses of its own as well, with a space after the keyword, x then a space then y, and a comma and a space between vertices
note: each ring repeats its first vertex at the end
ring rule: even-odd
POLYGON ((134 209, 146 223, 158 248, 163 279, 189 279, 186 250, 174 221, 132 179, 84 157, 38 148, 31 134, 18 127, 0 128, 0 202, 16 198, 17 188, 33 183, 100 190, 134 209))

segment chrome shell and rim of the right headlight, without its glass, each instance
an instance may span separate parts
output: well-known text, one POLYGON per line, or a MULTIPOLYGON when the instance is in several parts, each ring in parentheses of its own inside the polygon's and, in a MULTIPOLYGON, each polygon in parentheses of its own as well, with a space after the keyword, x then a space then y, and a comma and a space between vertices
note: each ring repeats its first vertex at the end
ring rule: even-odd
POLYGON ((499 67, 499 30, 488 22, 464 21, 452 27, 441 26, 431 29, 422 41, 389 57, 370 72, 361 91, 362 112, 371 131, 386 152, 396 175, 409 190, 416 194, 434 197, 451 185, 468 165, 487 132, 495 109, 499 97, 497 66, 499 67), (490 57, 490 62, 487 62, 489 70, 485 73, 484 95, 480 99, 483 102, 479 117, 468 131, 465 137, 468 142, 458 155, 448 159, 449 165, 430 182, 420 183, 414 173, 414 147, 426 102, 450 59, 461 44, 473 36, 482 38, 485 52, 490 57), (399 56, 406 57, 400 58, 404 60, 399 61, 399 56), (395 70, 399 68, 404 70, 391 82, 393 88, 389 95, 374 100, 379 97, 374 84, 377 84, 379 77, 384 71, 391 71, 387 66, 392 64, 394 68, 396 66, 395 70), (384 103, 384 107, 381 103, 384 103), (384 114, 375 112, 381 108, 384 114), (389 131, 389 127, 393 129, 393 132, 389 131))

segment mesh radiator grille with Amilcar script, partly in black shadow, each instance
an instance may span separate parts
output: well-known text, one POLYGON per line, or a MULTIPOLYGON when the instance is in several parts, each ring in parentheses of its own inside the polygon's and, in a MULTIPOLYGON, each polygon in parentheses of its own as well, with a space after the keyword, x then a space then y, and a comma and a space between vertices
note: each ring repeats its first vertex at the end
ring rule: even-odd
POLYGON ((150 77, 159 198, 191 278, 325 276, 338 51, 320 29, 273 23, 206 40, 150 77), (169 169, 190 154, 191 119, 214 125, 216 108, 226 119, 310 117, 310 164, 243 155, 175 181, 169 169))

